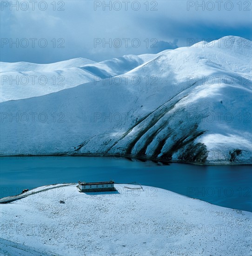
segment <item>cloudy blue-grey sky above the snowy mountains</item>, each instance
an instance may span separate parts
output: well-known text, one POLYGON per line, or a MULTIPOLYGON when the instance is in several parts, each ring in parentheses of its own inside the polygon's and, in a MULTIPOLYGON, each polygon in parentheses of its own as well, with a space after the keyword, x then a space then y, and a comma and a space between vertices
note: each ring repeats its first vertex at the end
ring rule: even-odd
POLYGON ((251 0, 0 2, 0 60, 7 62, 103 61, 187 46, 188 40, 252 40, 251 0))

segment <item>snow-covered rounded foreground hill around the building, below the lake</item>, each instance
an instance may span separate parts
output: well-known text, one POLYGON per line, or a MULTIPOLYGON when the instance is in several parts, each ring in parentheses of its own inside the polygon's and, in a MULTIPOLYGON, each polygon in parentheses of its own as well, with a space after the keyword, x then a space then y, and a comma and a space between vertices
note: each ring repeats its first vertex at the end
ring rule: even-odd
POLYGON ((252 254, 250 212, 147 186, 80 193, 61 185, 0 205, 0 255, 252 254))

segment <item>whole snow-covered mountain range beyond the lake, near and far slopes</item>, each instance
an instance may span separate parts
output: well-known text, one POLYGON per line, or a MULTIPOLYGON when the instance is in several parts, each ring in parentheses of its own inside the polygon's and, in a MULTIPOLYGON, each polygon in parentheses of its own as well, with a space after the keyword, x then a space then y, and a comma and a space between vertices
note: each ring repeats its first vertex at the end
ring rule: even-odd
POLYGON ((66 76, 64 86, 1 85, 1 155, 252 163, 251 54, 250 40, 228 36, 71 67, 1 63, 4 80, 66 76))

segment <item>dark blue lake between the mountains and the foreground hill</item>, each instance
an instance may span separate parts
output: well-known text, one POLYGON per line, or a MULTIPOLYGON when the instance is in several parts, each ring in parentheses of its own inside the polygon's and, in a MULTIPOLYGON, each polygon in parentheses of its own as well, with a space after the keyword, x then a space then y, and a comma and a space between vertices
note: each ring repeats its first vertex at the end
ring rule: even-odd
POLYGON ((114 157, 1 157, 0 197, 22 189, 78 181, 137 182, 212 204, 252 211, 252 168, 131 161, 114 157))

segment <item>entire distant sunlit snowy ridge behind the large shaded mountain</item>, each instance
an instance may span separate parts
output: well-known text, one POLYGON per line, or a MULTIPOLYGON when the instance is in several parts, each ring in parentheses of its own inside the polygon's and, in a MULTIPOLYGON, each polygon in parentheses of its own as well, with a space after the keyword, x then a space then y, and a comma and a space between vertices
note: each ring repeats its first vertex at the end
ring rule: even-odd
POLYGON ((0 101, 19 100, 58 92, 87 82, 124 74, 158 54, 125 55, 94 62, 76 58, 51 64, 0 62, 0 101))

